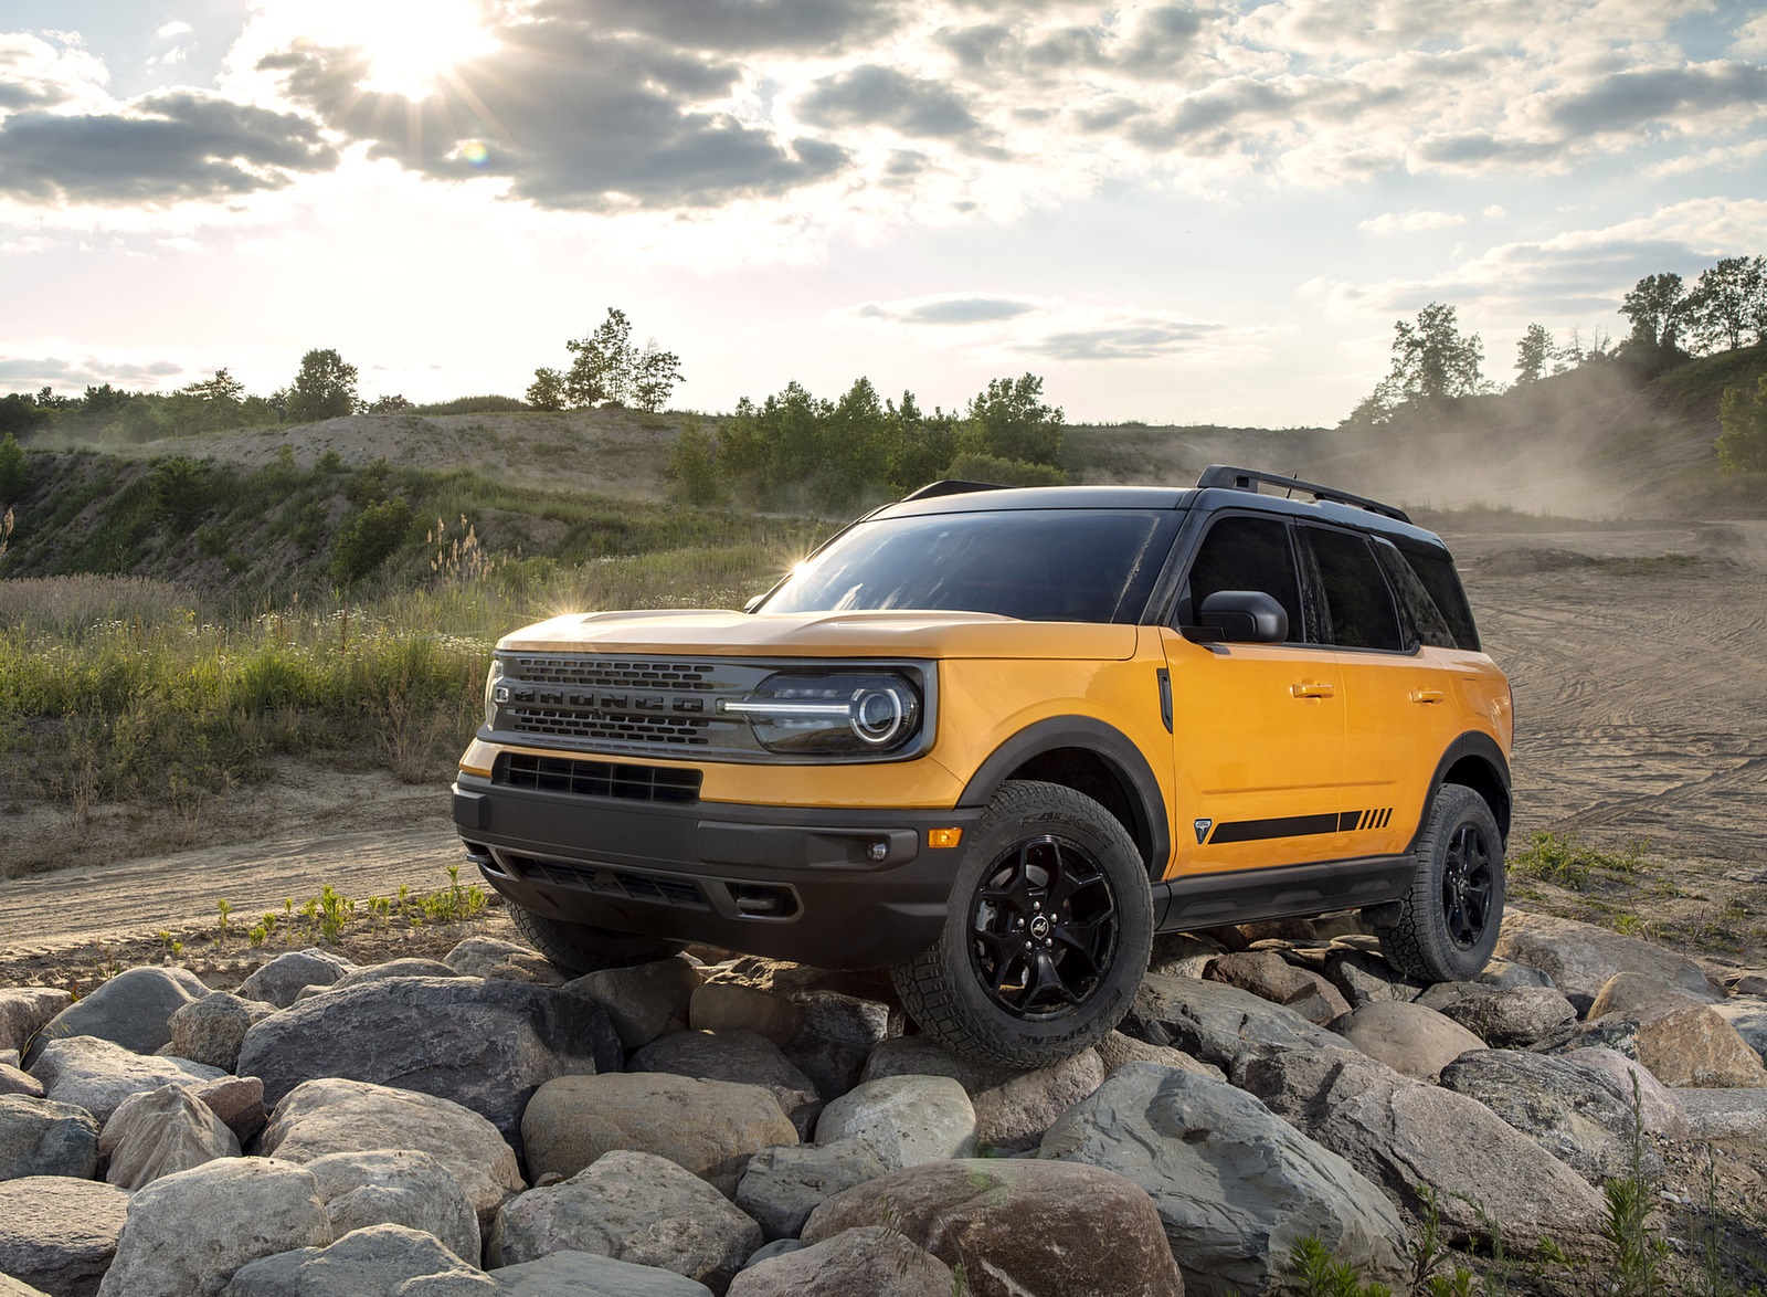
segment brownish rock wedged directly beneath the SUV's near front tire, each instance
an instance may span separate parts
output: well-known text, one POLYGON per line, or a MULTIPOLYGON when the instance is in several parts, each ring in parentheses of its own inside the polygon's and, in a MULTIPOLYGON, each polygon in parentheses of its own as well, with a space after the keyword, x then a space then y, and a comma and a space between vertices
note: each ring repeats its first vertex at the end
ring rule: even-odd
POLYGON ((1073 1058, 1014 1071, 959 1058, 924 1035, 898 1035, 878 1044, 861 1076, 949 1076, 970 1096, 975 1143, 988 1150, 1027 1152, 1050 1124, 1104 1083, 1104 1062, 1092 1050, 1073 1058))

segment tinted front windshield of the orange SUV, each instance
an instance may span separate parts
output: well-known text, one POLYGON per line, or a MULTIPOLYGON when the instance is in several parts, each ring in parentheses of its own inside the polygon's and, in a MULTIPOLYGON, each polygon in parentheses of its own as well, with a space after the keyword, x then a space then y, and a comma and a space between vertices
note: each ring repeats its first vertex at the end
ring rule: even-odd
POLYGON ((882 518, 800 564, 760 611, 926 608, 1027 622, 1133 622, 1180 516, 1020 509, 882 518))

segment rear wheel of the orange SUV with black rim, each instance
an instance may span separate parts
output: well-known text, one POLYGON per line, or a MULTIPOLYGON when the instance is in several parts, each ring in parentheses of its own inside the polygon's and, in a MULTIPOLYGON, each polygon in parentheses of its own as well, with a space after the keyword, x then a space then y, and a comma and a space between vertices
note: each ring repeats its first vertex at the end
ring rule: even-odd
POLYGON ((1387 963, 1433 982, 1467 982, 1491 959, 1504 922, 1504 836, 1472 788, 1442 785, 1414 852, 1410 892, 1373 912, 1387 963))

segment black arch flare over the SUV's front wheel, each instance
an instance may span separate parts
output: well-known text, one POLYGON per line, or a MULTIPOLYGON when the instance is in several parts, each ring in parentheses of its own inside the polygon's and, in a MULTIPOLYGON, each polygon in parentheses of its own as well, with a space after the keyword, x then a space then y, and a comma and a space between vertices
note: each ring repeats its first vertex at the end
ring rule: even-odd
POLYGON ((1129 831, 1149 878, 1166 871, 1172 859, 1166 799, 1141 749, 1120 730, 1088 716, 1037 721, 981 763, 958 806, 986 806, 1007 779, 1043 779, 1092 797, 1129 831))

